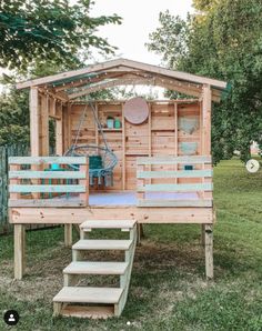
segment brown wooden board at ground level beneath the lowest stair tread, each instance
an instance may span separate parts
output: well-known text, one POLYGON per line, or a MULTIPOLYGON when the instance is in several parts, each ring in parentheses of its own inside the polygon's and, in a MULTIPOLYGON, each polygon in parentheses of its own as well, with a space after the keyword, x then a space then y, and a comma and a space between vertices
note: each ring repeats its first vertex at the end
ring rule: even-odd
POLYGON ((108 319, 114 315, 113 305, 71 305, 62 308, 61 314, 70 318, 108 319))

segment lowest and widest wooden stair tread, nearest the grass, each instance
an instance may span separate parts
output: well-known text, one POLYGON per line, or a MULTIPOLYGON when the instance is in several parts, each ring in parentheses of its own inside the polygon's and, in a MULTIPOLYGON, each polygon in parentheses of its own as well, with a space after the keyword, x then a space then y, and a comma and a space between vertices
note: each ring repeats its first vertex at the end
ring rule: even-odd
POLYGON ((111 303, 117 304, 123 289, 66 287, 53 298, 53 302, 63 303, 111 303))

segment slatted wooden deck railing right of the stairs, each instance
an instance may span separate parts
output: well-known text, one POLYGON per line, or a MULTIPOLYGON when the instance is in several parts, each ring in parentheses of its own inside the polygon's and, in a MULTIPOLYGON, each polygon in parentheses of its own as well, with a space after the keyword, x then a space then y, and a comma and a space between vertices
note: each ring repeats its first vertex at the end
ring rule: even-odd
POLYGON ((212 207, 212 174, 211 157, 138 158, 138 207, 212 207))

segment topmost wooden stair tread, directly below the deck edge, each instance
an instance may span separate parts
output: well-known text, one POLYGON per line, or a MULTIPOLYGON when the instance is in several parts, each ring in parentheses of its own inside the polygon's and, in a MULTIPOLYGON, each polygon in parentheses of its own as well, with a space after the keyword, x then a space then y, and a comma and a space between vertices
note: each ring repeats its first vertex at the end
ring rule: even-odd
POLYGON ((135 225, 135 220, 95 220, 85 221, 80 224, 83 231, 91 231, 92 229, 124 229, 130 230, 135 225))

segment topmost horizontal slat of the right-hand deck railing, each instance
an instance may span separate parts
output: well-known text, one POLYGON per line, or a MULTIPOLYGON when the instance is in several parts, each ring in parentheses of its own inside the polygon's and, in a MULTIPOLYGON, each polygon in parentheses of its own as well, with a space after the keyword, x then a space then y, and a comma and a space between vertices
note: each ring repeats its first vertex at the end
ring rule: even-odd
POLYGON ((195 157, 152 157, 152 158, 138 158, 138 165, 147 164, 198 164, 198 163, 211 163, 211 157, 195 156, 195 157))

